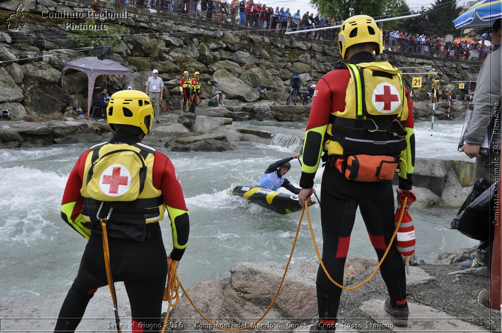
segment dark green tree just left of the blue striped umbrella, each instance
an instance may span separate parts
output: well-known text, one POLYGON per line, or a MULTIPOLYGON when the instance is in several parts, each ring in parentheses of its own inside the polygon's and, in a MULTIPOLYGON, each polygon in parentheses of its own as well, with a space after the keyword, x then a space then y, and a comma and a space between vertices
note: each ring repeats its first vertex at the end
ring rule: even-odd
POLYGON ((460 15, 461 8, 456 6, 457 3, 451 0, 436 0, 429 9, 427 18, 434 36, 458 35, 453 20, 460 15))

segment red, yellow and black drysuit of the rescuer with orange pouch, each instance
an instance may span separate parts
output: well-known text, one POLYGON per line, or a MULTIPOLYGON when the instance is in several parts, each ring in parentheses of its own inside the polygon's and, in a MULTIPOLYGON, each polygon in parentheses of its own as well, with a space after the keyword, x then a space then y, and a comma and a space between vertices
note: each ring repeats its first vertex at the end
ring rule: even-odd
MULTIPOLYGON (((363 64, 373 63, 374 59, 369 52, 360 52, 352 56, 349 62, 363 66, 363 64)), ((390 66, 387 62, 384 65, 390 66)), ((402 80, 400 79, 401 87, 393 90, 396 91, 396 95, 392 97, 398 100, 397 95, 400 95, 399 100, 403 110, 400 114, 401 124, 406 127, 407 134, 404 137, 396 137, 388 134, 387 130, 392 129, 403 136, 404 132, 400 131, 398 124, 395 123, 395 126, 389 127, 387 123, 391 123, 390 121, 375 120, 373 122, 362 117, 362 114, 356 115, 360 109, 360 104, 356 101, 360 101, 360 98, 355 99, 355 96, 360 97, 360 89, 361 87, 364 89, 366 85, 364 82, 359 83, 357 88, 359 91, 355 89, 354 92, 355 79, 351 79, 350 66, 348 67, 344 66, 327 73, 315 87, 305 134, 300 180, 302 189, 313 187, 321 153, 324 151, 328 157, 328 163, 324 168, 321 184, 322 260, 330 276, 339 284, 343 283, 345 259, 357 207, 366 225, 369 239, 381 259, 394 231, 394 193, 391 181, 369 183, 348 180, 333 167, 334 158, 358 153, 400 155, 406 164, 400 163, 399 187, 403 190, 411 190, 415 152, 413 104, 402 80), (347 107, 346 102, 350 104, 350 107, 347 107), (406 120, 403 121, 403 119, 406 120), (381 129, 373 131, 376 128, 375 125, 381 129)), ((386 89, 390 91, 388 88, 386 89)), ((378 98, 389 105, 394 101, 393 98, 386 96, 378 98)), ((389 289, 391 304, 396 304, 396 302, 405 304, 405 267, 395 246, 391 246, 381 266, 381 273, 389 289)), ((322 322, 330 324, 336 321, 340 294, 341 288, 333 284, 319 267, 317 299, 322 322)))

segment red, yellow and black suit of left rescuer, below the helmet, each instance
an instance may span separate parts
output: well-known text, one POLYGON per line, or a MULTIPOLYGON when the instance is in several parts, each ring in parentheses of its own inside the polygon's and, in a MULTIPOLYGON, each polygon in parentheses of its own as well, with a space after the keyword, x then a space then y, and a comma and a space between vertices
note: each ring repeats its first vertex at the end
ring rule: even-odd
MULTIPOLYGON (((101 202, 88 197, 87 177, 91 161, 107 151, 130 149, 145 157, 146 178, 137 199, 131 202, 103 202, 100 216, 114 210, 106 223, 110 270, 114 281, 123 281, 131 303, 133 331, 159 330, 167 260, 159 221, 167 209, 171 220, 173 249, 171 258, 180 260, 189 234, 188 210, 181 185, 171 160, 159 151, 140 143, 138 136, 117 131, 109 143, 96 145, 78 158, 68 177, 61 204, 61 217, 88 239, 73 282, 59 313, 55 331, 73 331, 97 288, 108 284, 102 245, 102 229, 96 219, 101 202)), ((131 165, 118 161, 129 170, 131 165)), ((114 165, 112 165, 114 167, 114 165)), ((117 192, 127 184, 115 174, 103 184, 117 192), (116 178, 113 178, 115 177, 116 178)), ((118 169, 117 169, 118 171, 118 169)), ((138 174, 131 173, 131 178, 138 174)), ((126 177, 127 178, 127 177, 126 177)), ((92 180, 91 180, 92 182, 92 180)), ((100 181, 101 182, 101 181, 100 181)), ((130 184, 134 182, 134 179, 130 184)), ((89 187, 90 187, 89 183, 89 187)))

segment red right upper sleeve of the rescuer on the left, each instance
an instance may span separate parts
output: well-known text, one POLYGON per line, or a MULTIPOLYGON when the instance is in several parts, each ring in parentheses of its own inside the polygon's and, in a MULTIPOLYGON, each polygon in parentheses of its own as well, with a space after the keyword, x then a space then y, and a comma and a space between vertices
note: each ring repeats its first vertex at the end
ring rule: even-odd
POLYGON ((166 155, 159 151, 155 152, 153 184, 156 189, 161 190, 165 205, 188 211, 174 165, 166 155))

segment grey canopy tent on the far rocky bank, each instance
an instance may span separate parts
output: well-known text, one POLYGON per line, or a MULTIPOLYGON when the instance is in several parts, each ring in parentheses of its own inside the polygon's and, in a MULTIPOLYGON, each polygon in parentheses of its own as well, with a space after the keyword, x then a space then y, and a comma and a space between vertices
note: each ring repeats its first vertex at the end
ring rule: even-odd
POLYGON ((89 114, 91 111, 91 103, 92 103, 92 91, 94 90, 94 84, 96 83, 96 78, 99 75, 124 75, 131 82, 131 87, 134 89, 134 79, 133 73, 127 67, 120 65, 109 59, 99 60, 97 57, 84 57, 76 60, 68 61, 63 71, 61 72, 61 85, 64 87, 64 75, 66 70, 74 69, 76 71, 84 72, 87 74, 88 84, 89 84, 89 92, 87 96, 87 118, 89 118, 89 114))

